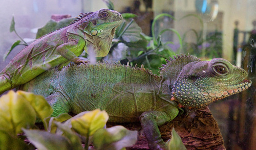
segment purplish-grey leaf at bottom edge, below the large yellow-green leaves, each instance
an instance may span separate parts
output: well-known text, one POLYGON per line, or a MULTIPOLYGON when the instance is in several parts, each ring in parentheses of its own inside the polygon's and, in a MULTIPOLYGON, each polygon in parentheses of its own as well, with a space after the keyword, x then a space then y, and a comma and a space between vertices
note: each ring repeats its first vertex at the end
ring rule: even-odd
POLYGON ((51 149, 51 150, 68 150, 72 149, 69 139, 57 135, 52 134, 46 131, 40 130, 26 130, 23 129, 25 135, 28 137, 29 141, 37 148, 37 149, 51 149))

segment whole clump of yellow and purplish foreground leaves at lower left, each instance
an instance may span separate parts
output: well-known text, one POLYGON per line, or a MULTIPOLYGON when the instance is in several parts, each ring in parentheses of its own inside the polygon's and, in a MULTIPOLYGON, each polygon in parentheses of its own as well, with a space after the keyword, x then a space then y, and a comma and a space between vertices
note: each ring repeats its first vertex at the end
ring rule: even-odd
POLYGON ((73 118, 68 114, 46 118, 52 114, 52 108, 44 97, 29 92, 8 92, 0 97, 0 108, 1 149, 31 149, 16 136, 23 131, 38 149, 83 149, 81 142, 89 149, 91 138, 98 147, 122 149, 137 140, 137 131, 121 126, 102 129, 109 118, 105 111, 82 112, 73 118), (47 123, 46 131, 34 129, 36 116, 47 123))

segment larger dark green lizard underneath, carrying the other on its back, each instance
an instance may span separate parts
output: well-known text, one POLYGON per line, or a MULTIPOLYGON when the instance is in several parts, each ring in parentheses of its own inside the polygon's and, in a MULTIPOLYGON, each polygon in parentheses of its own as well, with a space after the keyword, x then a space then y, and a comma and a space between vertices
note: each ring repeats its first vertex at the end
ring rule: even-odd
POLYGON ((166 61, 160 76, 143 65, 70 65, 44 72, 20 89, 46 97, 53 116, 100 109, 110 122, 140 121, 148 146, 167 149, 158 126, 251 85, 245 70, 222 58, 200 61, 181 55, 166 61))

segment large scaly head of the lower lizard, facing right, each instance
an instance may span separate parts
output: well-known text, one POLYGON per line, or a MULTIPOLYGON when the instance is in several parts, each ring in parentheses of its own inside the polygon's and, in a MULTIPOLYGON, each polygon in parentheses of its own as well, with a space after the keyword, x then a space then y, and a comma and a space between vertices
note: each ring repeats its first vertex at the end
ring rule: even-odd
MULTIPOLYGON (((177 77, 173 82, 172 99, 179 107, 205 108, 210 103, 239 93, 251 86, 247 72, 222 58, 200 61, 192 56, 182 56, 170 61, 183 63, 176 67, 177 77), (190 58, 190 59, 189 59, 190 58)), ((168 66, 168 63, 166 64, 168 66)), ((165 67, 164 67, 165 68, 165 67)), ((166 69, 162 70, 166 70, 166 69)))

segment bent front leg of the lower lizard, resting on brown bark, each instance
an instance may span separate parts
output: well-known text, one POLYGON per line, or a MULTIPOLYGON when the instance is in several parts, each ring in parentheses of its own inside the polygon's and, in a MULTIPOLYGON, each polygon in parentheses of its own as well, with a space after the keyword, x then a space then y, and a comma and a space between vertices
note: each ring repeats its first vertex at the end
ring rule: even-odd
POLYGON ((167 106, 163 111, 147 111, 140 115, 140 122, 150 149, 168 149, 161 138, 158 126, 172 120, 179 113, 173 105, 167 106))

